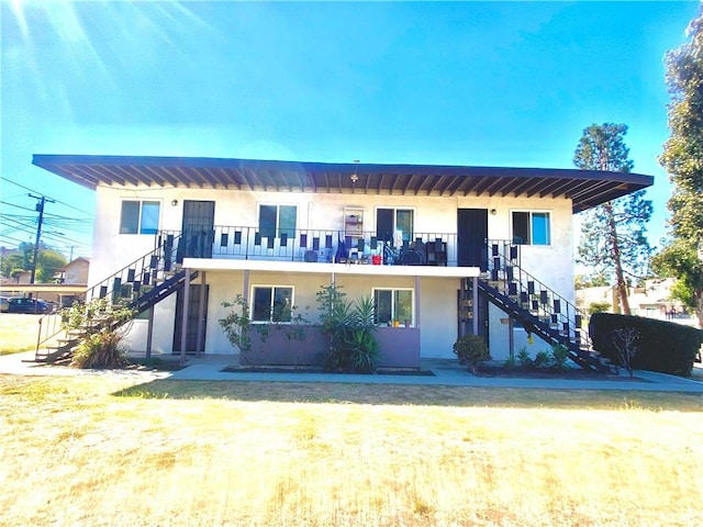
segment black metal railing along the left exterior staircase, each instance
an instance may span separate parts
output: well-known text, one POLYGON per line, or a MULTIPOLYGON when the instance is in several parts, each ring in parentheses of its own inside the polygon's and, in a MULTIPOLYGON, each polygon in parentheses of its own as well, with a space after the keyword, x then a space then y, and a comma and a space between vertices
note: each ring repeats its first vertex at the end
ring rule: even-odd
MULTIPOLYGON (((111 299, 113 304, 132 303, 141 295, 148 293, 157 282, 164 280, 166 273, 175 270, 179 236, 159 234, 155 242, 153 250, 86 289, 74 299, 74 303, 87 303, 93 299, 103 298, 111 299)), ((43 348, 57 344, 62 337, 67 337, 64 328, 66 311, 59 309, 38 319, 35 360, 41 360, 43 355, 46 356, 41 352, 43 348)))

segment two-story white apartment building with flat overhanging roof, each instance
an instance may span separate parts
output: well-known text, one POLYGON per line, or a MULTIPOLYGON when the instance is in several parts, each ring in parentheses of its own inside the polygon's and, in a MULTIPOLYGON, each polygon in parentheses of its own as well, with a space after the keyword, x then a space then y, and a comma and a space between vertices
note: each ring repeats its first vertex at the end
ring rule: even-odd
POLYGON ((287 323, 292 306, 314 319, 316 292, 335 283, 349 300, 375 300, 382 363, 397 366, 453 357, 466 333, 484 335, 496 359, 528 333, 578 343, 572 215, 652 182, 576 169, 72 155, 33 162, 96 191, 89 283, 103 284, 101 294, 116 284, 133 299, 156 284, 158 266, 170 271, 160 280, 175 294, 135 321, 133 349, 234 352, 217 324, 223 302, 241 294, 255 324, 287 323))

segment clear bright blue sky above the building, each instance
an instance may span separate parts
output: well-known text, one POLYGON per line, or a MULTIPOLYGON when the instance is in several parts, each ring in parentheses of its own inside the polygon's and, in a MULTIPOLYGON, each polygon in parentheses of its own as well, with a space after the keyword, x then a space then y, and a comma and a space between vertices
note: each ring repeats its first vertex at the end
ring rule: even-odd
POLYGON ((33 242, 31 189, 90 255, 93 193, 32 154, 570 168, 604 122, 666 232, 663 55, 699 2, 0 1, 0 245, 33 242))

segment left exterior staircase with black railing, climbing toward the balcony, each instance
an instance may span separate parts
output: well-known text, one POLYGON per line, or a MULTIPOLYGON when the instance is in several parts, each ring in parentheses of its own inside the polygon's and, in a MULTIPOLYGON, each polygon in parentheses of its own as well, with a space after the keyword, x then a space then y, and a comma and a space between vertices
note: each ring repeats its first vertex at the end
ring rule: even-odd
MULTIPOLYGON (((161 300, 181 289, 186 282, 186 271, 179 269, 182 258, 178 253, 179 236, 174 234, 158 235, 156 247, 146 255, 123 267, 98 284, 87 289, 76 302, 88 305, 96 299, 107 299, 105 307, 127 307, 134 316, 144 313, 161 300)), ((197 276, 191 273, 191 278, 197 276)), ((34 361, 56 362, 70 358, 74 349, 90 334, 112 324, 116 329, 122 321, 115 323, 108 313, 93 313, 90 324, 67 329, 69 309, 62 309, 40 318, 40 330, 36 341, 34 361)))

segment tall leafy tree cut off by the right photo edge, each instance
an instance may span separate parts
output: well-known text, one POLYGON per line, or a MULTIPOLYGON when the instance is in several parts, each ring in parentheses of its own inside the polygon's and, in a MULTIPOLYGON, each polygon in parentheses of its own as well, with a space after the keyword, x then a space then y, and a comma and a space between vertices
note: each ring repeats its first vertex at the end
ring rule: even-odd
POLYGON ((674 294, 703 324, 703 8, 688 29, 689 41, 666 55, 671 100, 670 135, 659 162, 672 183, 667 204, 671 240, 652 259, 659 273, 679 279, 674 294), (687 300, 688 299, 688 300, 687 300))

